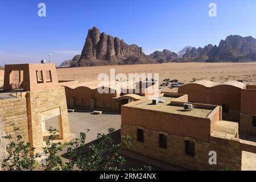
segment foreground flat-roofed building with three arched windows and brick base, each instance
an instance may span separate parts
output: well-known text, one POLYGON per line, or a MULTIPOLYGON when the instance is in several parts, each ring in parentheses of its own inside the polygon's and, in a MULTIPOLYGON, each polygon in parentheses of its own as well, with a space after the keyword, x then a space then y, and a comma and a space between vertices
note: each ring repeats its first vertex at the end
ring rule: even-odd
POLYGON ((188 102, 187 94, 164 93, 160 99, 122 106, 121 135, 133 138, 131 151, 187 169, 256 170, 255 140, 240 137, 238 122, 222 120, 222 106, 188 102), (194 109, 184 110, 184 104, 194 109), (217 163, 211 165, 212 151, 217 163))

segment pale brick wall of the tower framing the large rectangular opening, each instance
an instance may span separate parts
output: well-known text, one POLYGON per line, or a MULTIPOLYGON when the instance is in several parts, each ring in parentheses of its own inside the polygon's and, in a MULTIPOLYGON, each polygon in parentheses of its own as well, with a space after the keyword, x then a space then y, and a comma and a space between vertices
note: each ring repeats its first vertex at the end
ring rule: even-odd
POLYGON ((55 87, 27 93, 28 127, 30 130, 30 143, 36 147, 35 152, 42 150, 43 131, 42 113, 48 110, 60 108, 60 118, 63 129, 63 139, 71 137, 67 101, 64 87, 55 87))

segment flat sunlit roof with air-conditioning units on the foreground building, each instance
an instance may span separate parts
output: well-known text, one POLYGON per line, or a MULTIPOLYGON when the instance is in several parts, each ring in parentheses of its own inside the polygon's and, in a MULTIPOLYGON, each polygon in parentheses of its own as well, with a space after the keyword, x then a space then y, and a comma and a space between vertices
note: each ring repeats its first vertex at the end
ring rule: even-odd
POLYGON ((199 106, 196 106, 196 108, 191 111, 185 111, 183 109, 183 106, 171 104, 171 101, 174 101, 176 97, 161 97, 161 98, 165 102, 154 105, 152 104, 152 100, 147 100, 147 101, 137 102, 134 105, 130 105, 130 107, 146 109, 146 110, 162 111, 165 113, 190 115, 190 116, 200 117, 200 118, 206 118, 213 111, 213 109, 203 108, 199 106))

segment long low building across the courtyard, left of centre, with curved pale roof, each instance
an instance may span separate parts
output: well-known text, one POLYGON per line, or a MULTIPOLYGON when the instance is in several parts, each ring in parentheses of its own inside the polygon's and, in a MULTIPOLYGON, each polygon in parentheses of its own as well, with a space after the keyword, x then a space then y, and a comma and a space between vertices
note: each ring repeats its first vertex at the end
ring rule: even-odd
POLYGON ((103 87, 100 84, 100 81, 60 83, 65 87, 67 105, 71 109, 121 111, 121 106, 129 102, 159 96, 156 80, 112 81, 103 87), (106 92, 100 93, 99 88, 106 92))

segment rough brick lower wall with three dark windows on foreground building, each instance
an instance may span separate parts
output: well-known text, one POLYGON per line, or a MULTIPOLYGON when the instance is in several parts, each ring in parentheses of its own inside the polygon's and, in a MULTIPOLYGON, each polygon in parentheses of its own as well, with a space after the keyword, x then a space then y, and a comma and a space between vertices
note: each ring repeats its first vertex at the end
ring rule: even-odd
POLYGON ((193 170, 220 170, 224 166, 241 169, 241 151, 237 140, 225 140, 210 137, 210 142, 203 142, 189 137, 168 134, 164 131, 148 130, 141 126, 123 124, 121 135, 133 138, 131 151, 150 158, 162 160, 180 167, 193 170), (137 129, 144 130, 144 143, 137 142, 137 129), (167 150, 159 148, 158 135, 167 135, 167 150), (195 158, 185 155, 184 141, 195 142, 195 158), (209 164, 209 151, 217 152, 217 165, 209 164))

